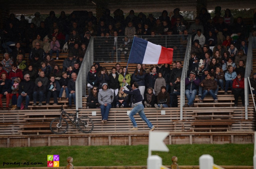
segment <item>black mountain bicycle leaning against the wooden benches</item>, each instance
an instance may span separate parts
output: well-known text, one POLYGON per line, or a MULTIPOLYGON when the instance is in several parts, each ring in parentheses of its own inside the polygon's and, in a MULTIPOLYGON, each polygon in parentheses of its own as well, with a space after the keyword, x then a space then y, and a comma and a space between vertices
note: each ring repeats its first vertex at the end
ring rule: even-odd
POLYGON ((69 124, 67 120, 63 118, 63 115, 70 120, 73 126, 76 126, 76 128, 83 133, 92 132, 94 127, 92 119, 88 116, 81 116, 78 118, 78 112, 80 112, 80 110, 76 110, 76 114, 70 114, 65 112, 63 106, 61 106, 60 111, 60 117, 53 119, 50 123, 50 129, 54 134, 63 134, 68 130, 69 124))

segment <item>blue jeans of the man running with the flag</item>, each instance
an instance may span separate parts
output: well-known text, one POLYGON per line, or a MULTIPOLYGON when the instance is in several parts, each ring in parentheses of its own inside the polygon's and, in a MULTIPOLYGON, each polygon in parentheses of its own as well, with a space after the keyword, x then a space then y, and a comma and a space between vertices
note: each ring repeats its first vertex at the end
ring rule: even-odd
POLYGON ((135 114, 139 113, 141 119, 146 122, 147 126, 151 129, 153 127, 152 123, 147 119, 145 113, 144 113, 144 106, 143 104, 137 104, 132 111, 129 114, 129 117, 132 121, 133 127, 138 127, 137 123, 135 121, 135 118, 133 117, 135 114))

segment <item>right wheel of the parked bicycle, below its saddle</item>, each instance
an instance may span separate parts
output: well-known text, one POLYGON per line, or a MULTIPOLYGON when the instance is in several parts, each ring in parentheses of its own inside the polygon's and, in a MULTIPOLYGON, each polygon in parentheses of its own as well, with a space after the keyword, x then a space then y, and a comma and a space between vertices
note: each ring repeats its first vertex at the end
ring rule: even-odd
POLYGON ((93 121, 88 116, 81 116, 78 119, 78 127, 83 133, 90 133, 93 130, 93 121))

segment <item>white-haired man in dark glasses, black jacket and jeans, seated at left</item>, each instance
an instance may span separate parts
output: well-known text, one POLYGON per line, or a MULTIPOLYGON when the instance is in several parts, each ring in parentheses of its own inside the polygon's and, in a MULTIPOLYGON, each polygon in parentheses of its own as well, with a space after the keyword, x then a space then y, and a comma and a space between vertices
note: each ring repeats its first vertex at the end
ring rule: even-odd
POLYGON ((15 110, 20 110, 21 103, 23 100, 26 101, 24 110, 28 110, 28 104, 29 104, 30 98, 32 98, 33 89, 34 89, 34 82, 30 80, 29 74, 25 74, 24 80, 19 84, 20 95, 18 97, 17 108, 15 108, 15 110))

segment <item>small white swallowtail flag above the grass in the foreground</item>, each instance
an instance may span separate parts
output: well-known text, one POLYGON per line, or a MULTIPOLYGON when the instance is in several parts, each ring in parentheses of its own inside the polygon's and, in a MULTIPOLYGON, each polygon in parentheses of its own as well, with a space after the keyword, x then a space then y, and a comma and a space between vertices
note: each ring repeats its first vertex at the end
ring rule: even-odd
POLYGON ((149 132, 148 137, 148 156, 151 156, 151 151, 169 151, 164 143, 164 139, 169 135, 169 132, 149 132))

